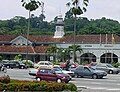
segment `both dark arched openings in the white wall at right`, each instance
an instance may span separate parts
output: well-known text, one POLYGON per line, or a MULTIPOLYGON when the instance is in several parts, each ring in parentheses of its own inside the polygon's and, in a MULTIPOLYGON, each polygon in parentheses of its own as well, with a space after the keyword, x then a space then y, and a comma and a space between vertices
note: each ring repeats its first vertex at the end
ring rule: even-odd
MULTIPOLYGON (((96 62, 98 57, 96 57, 93 53, 84 53, 80 56, 80 63, 90 63, 90 62, 96 62)), ((101 63, 117 63, 118 62, 118 56, 114 53, 104 53, 100 56, 100 62, 101 63)))

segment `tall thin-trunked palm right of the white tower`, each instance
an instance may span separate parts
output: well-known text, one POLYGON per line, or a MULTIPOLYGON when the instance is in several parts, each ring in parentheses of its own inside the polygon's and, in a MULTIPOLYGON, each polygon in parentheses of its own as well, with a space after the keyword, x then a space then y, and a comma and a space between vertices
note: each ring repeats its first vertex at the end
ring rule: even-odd
POLYGON ((76 36, 76 18, 77 15, 81 15, 86 12, 86 7, 88 6, 89 0, 71 0, 66 5, 70 7, 70 11, 74 15, 74 45, 73 45, 73 61, 75 61, 75 36, 76 36), (79 6, 83 5, 83 6, 79 6))

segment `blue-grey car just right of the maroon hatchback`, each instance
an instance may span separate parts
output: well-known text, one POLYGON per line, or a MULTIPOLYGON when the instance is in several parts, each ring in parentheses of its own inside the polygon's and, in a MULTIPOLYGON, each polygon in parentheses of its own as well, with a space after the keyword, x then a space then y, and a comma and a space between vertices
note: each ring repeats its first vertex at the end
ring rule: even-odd
POLYGON ((75 70, 75 77, 91 77, 93 79, 103 78, 107 76, 107 72, 96 70, 94 68, 86 67, 86 66, 78 66, 75 70))

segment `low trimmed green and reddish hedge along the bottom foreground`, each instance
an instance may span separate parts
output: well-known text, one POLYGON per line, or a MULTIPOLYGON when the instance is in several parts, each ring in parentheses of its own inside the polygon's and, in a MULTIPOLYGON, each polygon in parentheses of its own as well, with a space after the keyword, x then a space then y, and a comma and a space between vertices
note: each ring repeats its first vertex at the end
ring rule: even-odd
POLYGON ((72 83, 57 83, 47 81, 23 81, 23 80, 11 80, 10 83, 0 83, 0 91, 77 91, 77 87, 72 83))

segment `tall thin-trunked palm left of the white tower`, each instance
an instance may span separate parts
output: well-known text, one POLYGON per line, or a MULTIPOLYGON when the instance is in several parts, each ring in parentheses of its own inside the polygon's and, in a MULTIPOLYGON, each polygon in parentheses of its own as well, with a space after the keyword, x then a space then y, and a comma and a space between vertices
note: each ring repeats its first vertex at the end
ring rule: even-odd
POLYGON ((28 10, 29 14, 29 19, 28 19, 28 30, 27 30, 27 54, 26 54, 26 60, 28 60, 28 38, 29 38, 29 31, 30 31, 30 13, 41 5, 39 1, 35 0, 21 0, 23 3, 22 6, 28 10))

